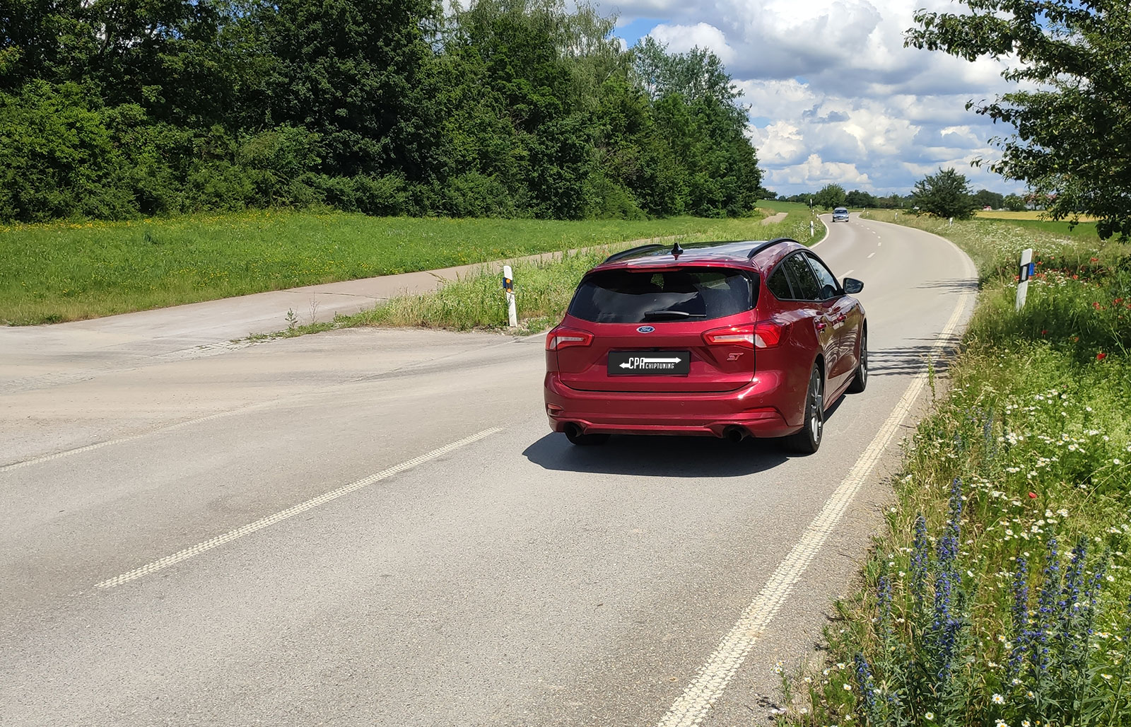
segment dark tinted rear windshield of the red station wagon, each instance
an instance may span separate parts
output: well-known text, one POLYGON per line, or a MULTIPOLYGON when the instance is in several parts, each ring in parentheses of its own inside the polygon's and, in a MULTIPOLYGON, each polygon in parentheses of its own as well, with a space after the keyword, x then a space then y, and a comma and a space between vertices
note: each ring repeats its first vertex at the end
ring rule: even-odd
POLYGON ((581 280, 569 313, 594 323, 707 320, 752 310, 757 291, 753 273, 728 268, 602 271, 581 280))

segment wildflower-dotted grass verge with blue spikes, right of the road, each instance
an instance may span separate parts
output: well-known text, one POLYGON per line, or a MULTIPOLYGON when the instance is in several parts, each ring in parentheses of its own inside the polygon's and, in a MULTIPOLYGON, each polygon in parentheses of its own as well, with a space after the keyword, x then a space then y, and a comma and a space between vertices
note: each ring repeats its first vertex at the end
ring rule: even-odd
POLYGON ((783 720, 1129 725, 1131 248, 981 221, 934 231, 977 263, 979 305, 827 662, 783 679, 783 720), (1015 313, 1025 247, 1039 272, 1015 313))

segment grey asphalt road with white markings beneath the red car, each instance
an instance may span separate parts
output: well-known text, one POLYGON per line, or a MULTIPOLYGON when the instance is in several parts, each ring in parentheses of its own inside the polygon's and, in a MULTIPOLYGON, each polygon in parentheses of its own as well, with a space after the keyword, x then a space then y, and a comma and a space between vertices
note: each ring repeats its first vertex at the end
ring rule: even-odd
POLYGON ((0 724, 765 724, 976 291, 915 230, 817 251, 865 282, 872 378, 809 457, 571 447, 542 336, 0 331, 0 724))

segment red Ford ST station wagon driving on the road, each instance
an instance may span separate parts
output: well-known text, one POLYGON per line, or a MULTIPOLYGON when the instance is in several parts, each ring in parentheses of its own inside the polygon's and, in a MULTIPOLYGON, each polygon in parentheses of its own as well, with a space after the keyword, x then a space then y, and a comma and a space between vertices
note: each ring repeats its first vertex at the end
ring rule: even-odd
POLYGON ((785 238, 612 255, 546 335, 550 426, 578 445, 682 434, 815 452, 824 411, 867 384, 863 288, 785 238))

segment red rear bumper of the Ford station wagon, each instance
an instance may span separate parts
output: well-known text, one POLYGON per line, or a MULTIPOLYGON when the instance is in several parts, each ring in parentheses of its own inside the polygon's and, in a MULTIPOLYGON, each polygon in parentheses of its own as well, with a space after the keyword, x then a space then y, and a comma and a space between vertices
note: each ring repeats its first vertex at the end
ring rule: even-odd
MULTIPOLYGON (((564 431, 570 424, 586 434, 675 434, 725 436, 740 427, 756 437, 783 437, 791 426, 774 405, 780 378, 760 375, 749 385, 718 393, 628 393, 579 391, 566 386, 553 371, 546 374, 545 402, 550 428, 564 431)), ((800 412, 798 412, 800 417, 800 412)))

